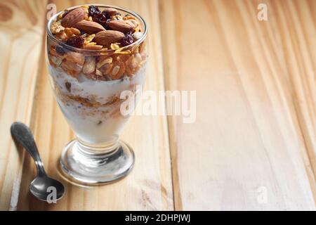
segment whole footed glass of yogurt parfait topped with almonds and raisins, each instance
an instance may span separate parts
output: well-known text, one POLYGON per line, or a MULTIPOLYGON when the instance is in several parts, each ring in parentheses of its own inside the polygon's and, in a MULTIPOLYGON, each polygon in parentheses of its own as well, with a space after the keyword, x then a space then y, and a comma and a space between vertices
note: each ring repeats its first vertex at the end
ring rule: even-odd
POLYGON ((121 93, 130 91, 138 99, 145 83, 145 21, 124 8, 76 6, 51 18, 47 33, 53 91, 77 136, 62 151, 62 172, 84 184, 125 176, 134 156, 119 141, 129 119, 121 113, 127 101, 121 93))

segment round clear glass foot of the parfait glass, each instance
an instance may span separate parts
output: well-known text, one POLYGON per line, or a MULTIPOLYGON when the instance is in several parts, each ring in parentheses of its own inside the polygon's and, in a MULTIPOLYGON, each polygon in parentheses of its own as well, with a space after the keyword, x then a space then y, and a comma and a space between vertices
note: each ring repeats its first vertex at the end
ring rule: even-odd
POLYGON ((118 141, 112 150, 100 151, 75 139, 60 155, 65 178, 86 186, 117 181, 131 172, 134 162, 133 150, 123 141, 118 141))

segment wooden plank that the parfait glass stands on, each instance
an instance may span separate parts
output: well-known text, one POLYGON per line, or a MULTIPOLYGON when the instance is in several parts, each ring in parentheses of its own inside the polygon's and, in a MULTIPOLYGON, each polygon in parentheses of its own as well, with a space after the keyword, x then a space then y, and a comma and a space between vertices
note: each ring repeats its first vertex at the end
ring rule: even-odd
MULTIPOLYGON (((102 2, 131 8, 143 15, 150 27, 159 25, 157 1, 102 2)), ((54 3, 61 10, 88 1, 60 0, 54 3)), ((159 29, 150 30, 150 51, 145 89, 157 91, 164 89, 159 29)), ((53 98, 44 63, 40 71, 34 133, 48 174, 57 178, 60 151, 73 134, 53 98)), ((18 210, 173 210, 166 117, 132 117, 121 139, 129 143, 136 153, 136 165, 131 174, 117 183, 98 188, 67 184, 65 198, 58 204, 39 203, 29 194, 28 184, 34 176, 29 174, 29 170, 34 170, 34 165, 26 160, 18 210)))

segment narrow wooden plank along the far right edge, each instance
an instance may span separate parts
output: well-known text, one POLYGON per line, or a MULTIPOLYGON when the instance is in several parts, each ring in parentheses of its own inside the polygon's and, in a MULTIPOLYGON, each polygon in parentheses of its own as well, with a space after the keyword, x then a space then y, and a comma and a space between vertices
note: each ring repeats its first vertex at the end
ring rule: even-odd
MULTIPOLYGON (((281 6, 278 5, 280 8, 281 6)), ((278 11, 282 20, 282 49, 287 49, 284 61, 293 89, 294 105, 303 133, 307 158, 306 165, 316 174, 316 2, 289 1, 284 13, 278 11), (289 16, 291 15, 291 16, 289 16)), ((316 196, 315 180, 311 181, 316 196)))

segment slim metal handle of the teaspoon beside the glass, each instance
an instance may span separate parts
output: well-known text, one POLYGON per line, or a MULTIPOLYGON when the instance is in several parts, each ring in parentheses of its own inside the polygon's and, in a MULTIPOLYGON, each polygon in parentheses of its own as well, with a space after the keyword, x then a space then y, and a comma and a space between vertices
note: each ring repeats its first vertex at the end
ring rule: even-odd
POLYGON ((22 122, 14 122, 11 125, 11 134, 16 141, 19 141, 22 144, 25 150, 27 150, 29 155, 34 159, 35 165, 37 166, 37 174, 46 175, 31 130, 22 122))

